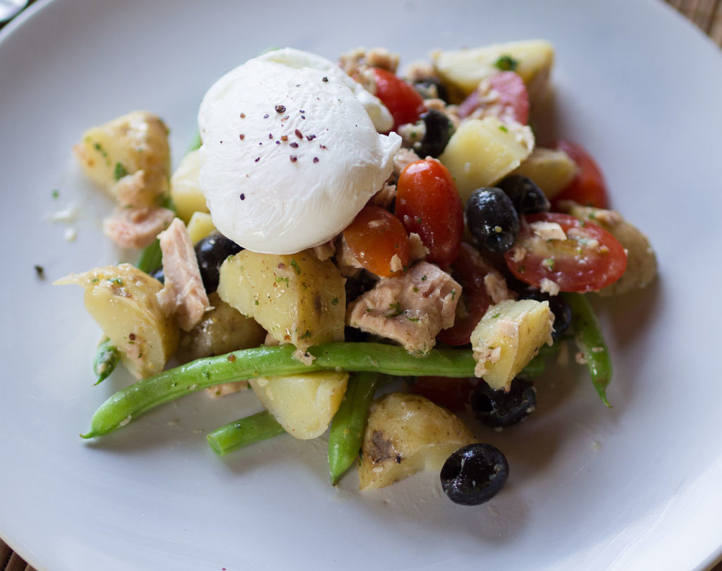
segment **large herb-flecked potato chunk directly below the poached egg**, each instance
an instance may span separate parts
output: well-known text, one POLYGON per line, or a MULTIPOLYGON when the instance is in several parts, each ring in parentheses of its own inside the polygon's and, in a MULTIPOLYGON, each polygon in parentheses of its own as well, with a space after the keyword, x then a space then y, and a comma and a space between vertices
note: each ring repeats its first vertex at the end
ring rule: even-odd
POLYGON ((311 250, 230 256, 220 269, 218 295, 279 343, 308 349, 344 339, 344 278, 331 260, 319 261, 311 250))

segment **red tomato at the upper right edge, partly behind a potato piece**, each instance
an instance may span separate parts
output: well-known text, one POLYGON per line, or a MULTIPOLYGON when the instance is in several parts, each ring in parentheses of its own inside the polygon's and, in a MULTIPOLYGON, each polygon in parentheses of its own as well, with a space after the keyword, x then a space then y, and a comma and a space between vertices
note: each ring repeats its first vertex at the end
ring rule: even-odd
POLYGON ((557 196, 552 200, 552 209, 561 200, 573 200, 582 206, 609 208, 609 195, 606 191, 604 176, 599 165, 586 149, 571 141, 556 141, 550 145, 552 149, 564 151, 577 164, 579 172, 557 196))

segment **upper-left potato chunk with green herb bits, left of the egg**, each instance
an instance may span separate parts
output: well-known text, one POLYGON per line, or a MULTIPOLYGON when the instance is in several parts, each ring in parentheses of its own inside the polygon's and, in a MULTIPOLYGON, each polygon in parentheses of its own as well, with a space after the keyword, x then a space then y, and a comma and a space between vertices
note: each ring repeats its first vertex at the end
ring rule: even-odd
POLYGON ((133 111, 85 131, 73 150, 85 174, 118 201, 118 180, 143 171, 142 204, 159 206, 168 194, 170 148, 168 128, 147 111, 133 111))

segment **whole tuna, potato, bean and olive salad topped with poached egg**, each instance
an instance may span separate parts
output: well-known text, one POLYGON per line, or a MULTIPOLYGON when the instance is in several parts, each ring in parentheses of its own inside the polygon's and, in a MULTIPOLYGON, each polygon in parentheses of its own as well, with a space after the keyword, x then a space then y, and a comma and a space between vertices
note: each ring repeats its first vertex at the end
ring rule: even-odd
POLYGON ((435 470, 477 505, 510 473, 484 430, 534 411, 545 362, 585 365, 609 406, 589 297, 646 287, 656 259, 590 154, 535 131, 553 60, 544 40, 403 72, 382 48, 269 51, 206 92, 175 170, 153 113, 88 129, 74 152, 116 201, 105 234, 140 254, 56 283, 103 330, 97 383, 118 363, 138 381, 82 436, 246 391, 263 410, 207 435, 219 456, 327 437, 334 484, 435 470))

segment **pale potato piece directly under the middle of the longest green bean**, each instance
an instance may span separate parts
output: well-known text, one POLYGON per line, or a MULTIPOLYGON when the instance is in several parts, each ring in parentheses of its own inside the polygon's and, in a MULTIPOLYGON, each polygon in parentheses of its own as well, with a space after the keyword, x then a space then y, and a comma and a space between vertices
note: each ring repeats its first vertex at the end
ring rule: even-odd
POLYGON ((320 371, 258 377, 248 382, 286 432, 309 440, 326 432, 344 398, 348 380, 347 372, 320 371))

